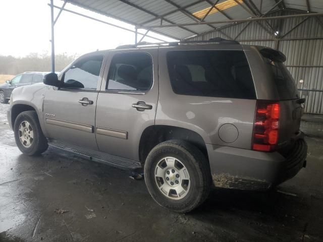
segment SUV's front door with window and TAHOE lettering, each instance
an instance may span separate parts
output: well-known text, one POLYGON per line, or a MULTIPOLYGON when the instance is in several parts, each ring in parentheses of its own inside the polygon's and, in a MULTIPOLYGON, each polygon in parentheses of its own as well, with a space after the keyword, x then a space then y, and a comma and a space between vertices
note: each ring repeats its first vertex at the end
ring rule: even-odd
POLYGON ((43 119, 46 136, 97 150, 94 126, 103 55, 82 57, 62 76, 60 88, 48 87, 43 119))

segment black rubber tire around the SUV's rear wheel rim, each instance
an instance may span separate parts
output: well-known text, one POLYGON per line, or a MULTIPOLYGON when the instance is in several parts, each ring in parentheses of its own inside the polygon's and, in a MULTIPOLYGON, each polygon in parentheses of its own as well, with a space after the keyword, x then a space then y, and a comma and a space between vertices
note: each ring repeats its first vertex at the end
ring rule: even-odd
POLYGON ((201 191, 203 189, 202 173, 196 165, 196 162, 198 161, 194 162, 194 157, 188 152, 183 152, 182 150, 172 146, 166 146, 151 152, 148 155, 144 166, 145 183, 151 197, 159 205, 174 211, 181 212, 184 207, 195 207, 195 204, 198 203, 197 201, 200 200, 201 191), (180 160, 186 166, 190 175, 190 190, 184 198, 179 200, 170 199, 163 195, 159 191, 155 181, 154 170, 157 163, 168 156, 180 160))

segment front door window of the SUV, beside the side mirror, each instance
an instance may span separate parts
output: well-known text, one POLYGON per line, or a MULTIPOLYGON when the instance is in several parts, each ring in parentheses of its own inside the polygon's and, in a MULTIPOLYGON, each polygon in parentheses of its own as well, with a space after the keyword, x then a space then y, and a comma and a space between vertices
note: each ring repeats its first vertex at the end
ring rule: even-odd
POLYGON ((103 62, 103 55, 80 59, 64 74, 63 87, 96 89, 103 62))

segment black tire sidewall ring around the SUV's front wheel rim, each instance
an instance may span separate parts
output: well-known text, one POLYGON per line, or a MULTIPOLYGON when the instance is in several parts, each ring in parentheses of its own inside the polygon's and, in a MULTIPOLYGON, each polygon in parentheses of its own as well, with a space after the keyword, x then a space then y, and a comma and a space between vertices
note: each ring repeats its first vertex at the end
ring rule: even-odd
POLYGON ((36 123, 37 121, 34 120, 34 118, 31 115, 27 114, 26 112, 20 113, 15 120, 14 133, 15 133, 16 144, 20 149, 20 151, 23 152, 24 154, 32 155, 36 153, 36 150, 38 148, 38 144, 40 142, 40 139, 39 139, 40 130, 39 130, 38 123, 36 123), (31 143, 31 146, 28 148, 21 143, 19 138, 19 126, 24 121, 27 121, 31 125, 31 128, 33 130, 33 141, 31 143))

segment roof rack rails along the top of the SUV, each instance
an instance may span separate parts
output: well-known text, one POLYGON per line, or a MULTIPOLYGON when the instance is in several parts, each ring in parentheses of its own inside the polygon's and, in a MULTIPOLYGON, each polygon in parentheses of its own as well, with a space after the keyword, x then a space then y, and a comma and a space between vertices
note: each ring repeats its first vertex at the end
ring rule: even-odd
POLYGON ((137 48, 139 46, 147 46, 147 45, 158 45, 158 46, 177 46, 179 44, 206 44, 206 43, 217 43, 217 44, 240 44, 236 40, 223 39, 220 37, 211 38, 209 40, 181 40, 179 42, 158 42, 158 43, 150 43, 146 41, 139 42, 137 44, 126 44, 120 45, 116 49, 132 49, 137 48))

